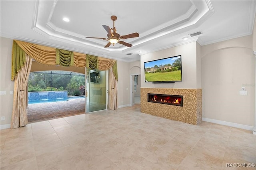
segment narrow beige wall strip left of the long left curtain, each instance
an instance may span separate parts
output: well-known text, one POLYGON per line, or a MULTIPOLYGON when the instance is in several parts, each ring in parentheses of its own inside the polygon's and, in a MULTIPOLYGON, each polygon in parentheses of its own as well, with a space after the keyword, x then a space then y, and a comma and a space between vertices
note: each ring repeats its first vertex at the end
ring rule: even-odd
POLYGON ((10 91, 14 89, 14 82, 11 81, 12 67, 12 39, 1 37, 1 53, 0 53, 0 90, 6 91, 6 95, 0 95, 0 115, 5 117, 5 121, 1 121, 3 125, 11 123, 13 95, 10 91))

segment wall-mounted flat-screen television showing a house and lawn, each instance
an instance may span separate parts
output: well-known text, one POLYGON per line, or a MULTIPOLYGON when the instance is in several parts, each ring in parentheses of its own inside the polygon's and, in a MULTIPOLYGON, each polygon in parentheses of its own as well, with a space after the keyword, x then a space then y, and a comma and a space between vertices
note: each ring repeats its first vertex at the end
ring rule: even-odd
POLYGON ((144 62, 145 82, 182 81, 181 55, 144 62))

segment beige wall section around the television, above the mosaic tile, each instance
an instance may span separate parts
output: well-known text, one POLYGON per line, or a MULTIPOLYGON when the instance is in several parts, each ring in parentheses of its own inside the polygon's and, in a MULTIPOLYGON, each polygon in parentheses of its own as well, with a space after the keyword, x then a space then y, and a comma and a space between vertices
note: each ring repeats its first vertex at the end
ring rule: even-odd
MULTIPOLYGON (((148 88, 181 88, 181 89, 196 89, 201 85, 198 80, 197 72, 197 43, 191 42, 184 45, 179 45, 176 47, 163 49, 156 51, 154 53, 148 53, 142 55, 140 58, 140 67, 141 67, 141 87, 148 88), (182 61, 182 82, 175 82, 174 84, 153 84, 151 82, 145 82, 144 75, 144 62, 152 61, 156 59, 172 57, 176 55, 181 55, 182 61)), ((200 79, 200 77, 199 77, 200 79)))

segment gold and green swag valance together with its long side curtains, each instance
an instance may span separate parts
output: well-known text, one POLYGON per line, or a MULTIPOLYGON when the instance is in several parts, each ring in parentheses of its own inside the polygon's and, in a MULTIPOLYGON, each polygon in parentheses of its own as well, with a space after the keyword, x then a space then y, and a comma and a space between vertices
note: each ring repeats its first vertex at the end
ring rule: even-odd
POLYGON ((25 89, 28 83, 32 59, 45 65, 61 65, 63 67, 73 65, 75 67, 87 67, 101 71, 109 70, 109 74, 111 72, 112 76, 109 82, 114 83, 112 87, 116 91, 113 95, 109 95, 109 105, 114 105, 114 107, 111 107, 111 110, 118 109, 118 105, 115 106, 117 104, 117 88, 115 87, 118 81, 116 60, 14 40, 12 46, 11 77, 12 81, 14 81, 14 102, 11 128, 22 127, 28 124, 25 89))

